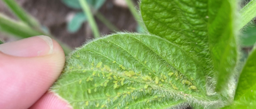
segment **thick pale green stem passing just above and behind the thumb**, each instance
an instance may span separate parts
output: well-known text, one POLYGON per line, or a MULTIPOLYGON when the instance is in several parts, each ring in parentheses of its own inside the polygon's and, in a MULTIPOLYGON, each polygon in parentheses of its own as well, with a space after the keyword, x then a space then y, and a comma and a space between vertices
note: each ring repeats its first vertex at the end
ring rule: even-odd
POLYGON ((0 13, 0 31, 8 33, 10 35, 17 36, 19 38, 29 38, 32 36, 46 35, 55 39, 61 45, 66 55, 68 55, 68 53, 70 53, 71 51, 71 48, 68 45, 63 44, 61 41, 58 41, 53 36, 42 33, 38 30, 35 30, 23 22, 14 21, 11 18, 8 18, 1 13, 0 13))

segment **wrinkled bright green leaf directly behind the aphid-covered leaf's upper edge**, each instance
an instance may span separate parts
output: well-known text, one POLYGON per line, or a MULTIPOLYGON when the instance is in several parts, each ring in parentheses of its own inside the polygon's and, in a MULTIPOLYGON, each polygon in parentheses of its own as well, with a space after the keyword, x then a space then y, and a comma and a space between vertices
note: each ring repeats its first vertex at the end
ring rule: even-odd
POLYGON ((207 37, 208 0, 141 0, 148 31, 174 42, 210 72, 207 37))

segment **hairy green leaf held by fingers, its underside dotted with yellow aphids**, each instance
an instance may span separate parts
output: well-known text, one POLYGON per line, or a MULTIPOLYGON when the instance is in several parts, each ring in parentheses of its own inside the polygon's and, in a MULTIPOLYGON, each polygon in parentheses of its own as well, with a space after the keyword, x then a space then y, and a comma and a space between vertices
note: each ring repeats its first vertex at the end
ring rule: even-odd
POLYGON ((51 90, 74 109, 165 109, 217 103, 205 86, 203 67, 176 44, 118 33, 77 48, 51 90))

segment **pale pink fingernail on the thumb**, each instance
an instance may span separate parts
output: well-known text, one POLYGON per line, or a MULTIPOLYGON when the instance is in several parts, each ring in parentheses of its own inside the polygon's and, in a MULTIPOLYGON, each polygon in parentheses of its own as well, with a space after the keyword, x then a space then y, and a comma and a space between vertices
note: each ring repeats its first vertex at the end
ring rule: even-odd
POLYGON ((13 56, 35 57, 53 53, 53 41, 48 36, 34 36, 0 45, 0 51, 13 56))

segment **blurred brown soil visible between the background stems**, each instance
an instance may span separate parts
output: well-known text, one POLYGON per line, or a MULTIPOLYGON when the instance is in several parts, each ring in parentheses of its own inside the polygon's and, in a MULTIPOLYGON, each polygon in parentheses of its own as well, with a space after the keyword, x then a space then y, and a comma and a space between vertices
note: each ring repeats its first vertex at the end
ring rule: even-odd
MULTIPOLYGON (((80 10, 68 8, 61 0, 16 0, 27 12, 33 15, 44 26, 47 26, 50 32, 64 43, 72 48, 79 47, 88 39, 92 39, 93 35, 88 23, 83 24, 82 28, 76 33, 69 33, 66 29, 67 18, 72 13, 80 10)), ((127 30, 135 32, 137 23, 128 8, 124 8, 113 3, 114 0, 107 0, 99 11, 112 22, 119 30, 127 30)), ((134 0, 137 2, 137 0, 134 0)), ((0 12, 15 18, 0 1, 0 12)), ((97 25, 102 34, 110 34, 109 30, 101 21, 96 18, 97 25)), ((6 35, 0 33, 0 38, 6 41, 14 39, 6 38, 6 35)))

